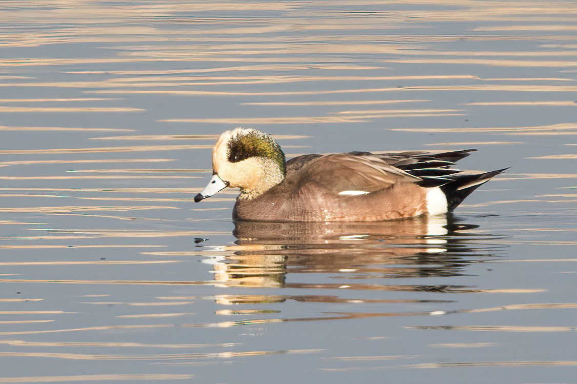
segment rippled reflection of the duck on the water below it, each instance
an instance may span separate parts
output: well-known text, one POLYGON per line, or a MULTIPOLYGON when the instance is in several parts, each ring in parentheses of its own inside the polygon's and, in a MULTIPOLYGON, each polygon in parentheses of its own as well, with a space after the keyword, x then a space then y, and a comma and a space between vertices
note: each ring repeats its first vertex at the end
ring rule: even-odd
MULTIPOLYGON (((235 245, 212 259, 216 284, 227 287, 349 288, 448 291, 449 285, 380 285, 383 278, 448 277, 464 274, 484 259, 490 235, 478 225, 459 224, 450 216, 417 217, 363 223, 235 223, 235 245), (287 273, 323 273, 313 283, 289 283, 287 273), (327 276, 329 282, 327 283, 327 276), (336 284, 340 277, 347 284, 336 284), (374 284, 374 281, 379 284, 374 284), (314 283, 319 281, 319 283, 314 283), (320 283, 322 281, 322 283, 320 283)), ((300 280, 300 279, 291 279, 300 280)), ((234 296, 241 302, 263 298, 234 296)), ((279 296, 283 300, 287 296, 279 296)), ((266 296, 266 300, 272 300, 266 296)), ((223 302, 227 299, 221 298, 223 302)))

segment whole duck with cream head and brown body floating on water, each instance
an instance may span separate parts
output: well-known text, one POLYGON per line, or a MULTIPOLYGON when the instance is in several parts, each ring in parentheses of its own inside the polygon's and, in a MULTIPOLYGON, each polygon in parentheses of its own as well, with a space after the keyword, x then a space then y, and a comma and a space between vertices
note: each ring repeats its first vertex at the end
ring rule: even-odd
POLYGON ((501 170, 466 174, 454 168, 475 149, 433 153, 310 154, 286 161, 262 131, 238 127, 212 150, 212 178, 200 202, 239 188, 234 221, 384 221, 452 212, 501 170))

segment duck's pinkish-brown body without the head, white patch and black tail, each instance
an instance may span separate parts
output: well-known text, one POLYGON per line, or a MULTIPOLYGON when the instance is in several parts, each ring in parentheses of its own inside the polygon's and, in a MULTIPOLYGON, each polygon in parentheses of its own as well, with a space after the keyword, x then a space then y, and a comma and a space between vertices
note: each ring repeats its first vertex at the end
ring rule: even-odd
MULTIPOLYGON (((396 159, 398 160, 398 159, 396 159)), ((374 156, 305 155, 287 162, 286 178, 252 199, 238 199, 234 220, 375 221, 428 213, 420 179, 374 156), (342 195, 342 191, 366 194, 342 195)))

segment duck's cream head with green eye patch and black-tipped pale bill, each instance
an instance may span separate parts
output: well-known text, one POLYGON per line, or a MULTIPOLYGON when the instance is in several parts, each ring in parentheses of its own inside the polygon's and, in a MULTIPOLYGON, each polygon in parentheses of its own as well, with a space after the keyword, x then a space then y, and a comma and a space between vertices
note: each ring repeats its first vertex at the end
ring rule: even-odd
POLYGON ((285 175, 284 153, 272 137, 256 129, 233 129, 216 141, 212 179, 194 201, 226 187, 240 188, 239 199, 252 199, 282 182, 285 175))

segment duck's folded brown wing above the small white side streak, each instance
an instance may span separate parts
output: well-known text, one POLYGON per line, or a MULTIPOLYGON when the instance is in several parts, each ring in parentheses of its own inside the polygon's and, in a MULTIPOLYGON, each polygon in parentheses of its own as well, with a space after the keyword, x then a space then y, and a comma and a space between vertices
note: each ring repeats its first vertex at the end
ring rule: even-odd
POLYGON ((291 172, 291 168, 287 171, 287 182, 294 183, 296 189, 314 185, 341 195, 367 194, 399 182, 422 181, 377 156, 355 153, 316 155, 301 164, 298 171, 291 172))

